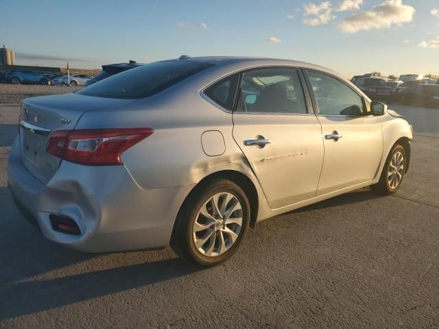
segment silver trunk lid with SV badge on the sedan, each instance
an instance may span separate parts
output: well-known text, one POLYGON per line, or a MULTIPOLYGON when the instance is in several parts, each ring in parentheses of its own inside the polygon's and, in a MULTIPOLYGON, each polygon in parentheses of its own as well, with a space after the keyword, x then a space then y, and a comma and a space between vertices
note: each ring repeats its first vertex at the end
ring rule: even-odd
POLYGON ((73 130, 82 114, 100 108, 125 106, 135 99, 109 99, 78 94, 34 97, 23 101, 20 113, 21 158, 27 170, 47 184, 61 159, 46 152, 51 132, 73 130))

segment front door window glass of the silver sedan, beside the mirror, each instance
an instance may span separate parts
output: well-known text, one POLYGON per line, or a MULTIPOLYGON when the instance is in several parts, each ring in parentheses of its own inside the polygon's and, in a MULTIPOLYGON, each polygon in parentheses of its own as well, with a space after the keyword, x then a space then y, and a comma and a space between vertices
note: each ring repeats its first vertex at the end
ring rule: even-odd
POLYGON ((321 73, 308 72, 320 114, 363 115, 363 99, 340 80, 321 73))

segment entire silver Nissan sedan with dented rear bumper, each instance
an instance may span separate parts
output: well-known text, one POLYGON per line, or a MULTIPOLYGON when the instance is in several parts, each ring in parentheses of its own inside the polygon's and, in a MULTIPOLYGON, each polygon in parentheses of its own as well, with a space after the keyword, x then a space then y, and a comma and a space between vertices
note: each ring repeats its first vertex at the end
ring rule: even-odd
POLYGON ((407 121, 321 66, 185 56, 25 99, 8 186, 71 249, 170 244, 212 266, 257 221, 364 186, 394 193, 411 140, 407 121))

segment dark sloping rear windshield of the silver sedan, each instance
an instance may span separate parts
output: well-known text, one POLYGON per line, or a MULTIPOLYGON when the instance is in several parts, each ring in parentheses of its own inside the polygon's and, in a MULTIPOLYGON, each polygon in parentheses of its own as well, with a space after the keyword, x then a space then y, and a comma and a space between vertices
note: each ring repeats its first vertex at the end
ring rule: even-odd
POLYGON ((104 98, 145 98, 211 66, 182 60, 155 62, 113 75, 76 93, 104 98))

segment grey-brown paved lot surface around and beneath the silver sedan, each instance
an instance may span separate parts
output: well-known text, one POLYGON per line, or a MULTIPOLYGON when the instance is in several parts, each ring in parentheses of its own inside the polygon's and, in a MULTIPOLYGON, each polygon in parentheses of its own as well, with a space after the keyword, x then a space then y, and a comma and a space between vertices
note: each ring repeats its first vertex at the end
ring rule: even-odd
POLYGON ((0 105, 0 328, 438 328, 439 110, 391 108, 416 132, 396 195, 364 188, 263 221, 199 270, 169 248, 47 241, 6 187, 19 106, 0 105))

